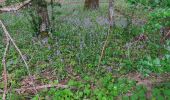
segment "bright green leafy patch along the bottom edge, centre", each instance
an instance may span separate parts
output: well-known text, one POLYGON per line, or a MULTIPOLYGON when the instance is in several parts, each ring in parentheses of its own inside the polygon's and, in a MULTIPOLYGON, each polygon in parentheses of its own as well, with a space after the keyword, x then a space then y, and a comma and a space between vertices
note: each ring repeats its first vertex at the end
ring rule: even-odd
MULTIPOLYGON (((84 80, 85 81, 85 80, 84 80)), ((55 89, 51 88, 48 92, 42 91, 39 96, 44 99, 100 99, 100 100, 113 100, 119 95, 126 93, 133 85, 134 82, 127 79, 116 79, 107 74, 100 81, 100 85, 92 87, 92 83, 80 82, 70 80, 68 85, 70 89, 55 89)), ((37 95, 34 97, 36 100, 37 95)))

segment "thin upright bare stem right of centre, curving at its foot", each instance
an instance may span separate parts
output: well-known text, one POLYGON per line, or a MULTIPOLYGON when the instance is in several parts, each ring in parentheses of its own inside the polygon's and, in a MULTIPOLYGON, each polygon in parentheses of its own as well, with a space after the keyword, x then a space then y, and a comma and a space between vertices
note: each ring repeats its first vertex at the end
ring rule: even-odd
POLYGON ((108 33, 107 33, 107 38, 104 42, 104 45, 103 45, 103 48, 102 48, 102 51, 101 51, 101 55, 100 55, 100 58, 99 58, 98 68, 99 68, 101 61, 102 61, 102 58, 104 56, 104 52, 105 52, 107 43, 109 41, 109 36, 110 36, 110 33, 112 32, 112 27, 114 25, 114 23, 113 23, 113 15, 114 15, 113 2, 114 2, 114 0, 109 0, 109 15, 108 15, 109 16, 109 29, 108 29, 108 33))

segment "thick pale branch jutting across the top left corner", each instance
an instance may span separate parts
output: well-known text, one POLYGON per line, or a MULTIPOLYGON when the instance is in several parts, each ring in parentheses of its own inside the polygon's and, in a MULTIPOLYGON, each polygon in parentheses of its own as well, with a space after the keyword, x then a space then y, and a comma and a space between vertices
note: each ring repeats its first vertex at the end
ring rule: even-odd
POLYGON ((0 13, 1 12, 10 12, 10 11, 17 11, 19 9, 21 9, 22 7, 24 7, 25 5, 29 4, 32 0, 26 0, 24 2, 21 3, 17 3, 11 6, 7 6, 7 7, 3 7, 0 8, 0 13))

